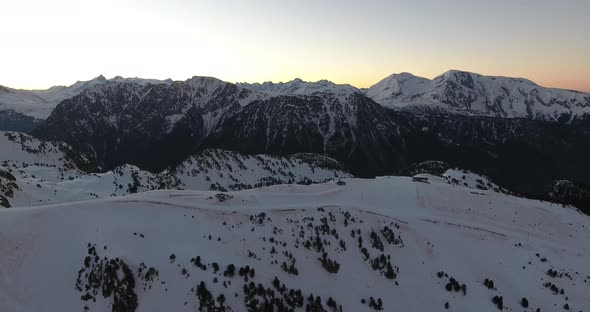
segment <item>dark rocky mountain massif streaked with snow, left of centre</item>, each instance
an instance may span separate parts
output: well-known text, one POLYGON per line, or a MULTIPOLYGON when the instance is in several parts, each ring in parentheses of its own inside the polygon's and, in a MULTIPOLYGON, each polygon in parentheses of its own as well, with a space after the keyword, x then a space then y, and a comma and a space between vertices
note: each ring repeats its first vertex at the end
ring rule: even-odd
POLYGON ((385 110, 360 93, 270 95, 194 77, 88 89, 60 103, 34 134, 68 142, 109 168, 132 163, 159 171, 204 148, 396 163, 393 149, 382 148, 401 144, 385 110))

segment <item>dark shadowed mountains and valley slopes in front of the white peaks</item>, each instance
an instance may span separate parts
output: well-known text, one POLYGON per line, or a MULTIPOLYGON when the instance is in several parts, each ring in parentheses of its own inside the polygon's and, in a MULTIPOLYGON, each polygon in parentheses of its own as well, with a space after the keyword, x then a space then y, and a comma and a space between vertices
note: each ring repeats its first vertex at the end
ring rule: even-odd
POLYGON ((544 194, 557 179, 590 183, 589 123, 449 114, 445 106, 389 109, 358 92, 271 94, 210 77, 119 81, 64 100, 33 134, 67 142, 109 170, 160 172, 214 148, 323 154, 362 177, 442 160, 522 193, 544 194))

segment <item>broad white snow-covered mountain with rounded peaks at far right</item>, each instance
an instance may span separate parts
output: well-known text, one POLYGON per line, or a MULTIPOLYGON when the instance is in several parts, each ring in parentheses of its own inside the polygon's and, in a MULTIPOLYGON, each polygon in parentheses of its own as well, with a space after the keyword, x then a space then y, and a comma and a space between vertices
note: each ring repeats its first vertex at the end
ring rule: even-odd
POLYGON ((451 70, 433 80, 394 74, 366 92, 390 108, 571 122, 590 113, 590 94, 544 88, 521 78, 451 70))

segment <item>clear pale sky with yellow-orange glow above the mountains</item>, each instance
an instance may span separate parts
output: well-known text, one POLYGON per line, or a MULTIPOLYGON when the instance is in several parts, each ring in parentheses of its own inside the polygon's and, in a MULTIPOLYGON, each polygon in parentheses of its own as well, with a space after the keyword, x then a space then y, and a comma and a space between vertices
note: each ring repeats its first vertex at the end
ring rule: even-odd
POLYGON ((449 69, 590 92, 588 0, 0 0, 0 85, 99 74, 370 86, 449 69))

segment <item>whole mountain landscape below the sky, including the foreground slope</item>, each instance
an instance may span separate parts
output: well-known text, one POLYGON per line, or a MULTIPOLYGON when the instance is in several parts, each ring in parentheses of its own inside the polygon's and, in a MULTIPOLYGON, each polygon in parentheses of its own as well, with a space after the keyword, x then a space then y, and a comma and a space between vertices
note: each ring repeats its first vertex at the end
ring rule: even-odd
POLYGON ((585 309, 587 95, 443 76, 2 89, 0 311, 585 309))

